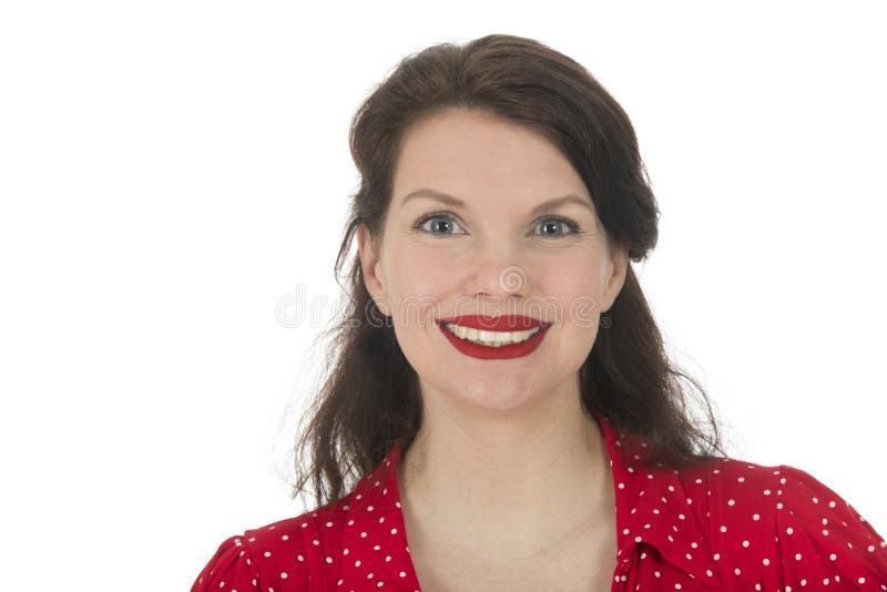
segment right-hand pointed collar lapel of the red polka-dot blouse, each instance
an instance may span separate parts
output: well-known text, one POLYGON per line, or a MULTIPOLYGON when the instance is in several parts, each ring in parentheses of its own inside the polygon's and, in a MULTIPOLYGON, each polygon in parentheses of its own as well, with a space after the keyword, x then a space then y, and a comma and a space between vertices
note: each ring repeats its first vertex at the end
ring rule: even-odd
POLYGON ((606 442, 616 497, 616 561, 629 564, 634 547, 653 545, 660 555, 701 584, 721 588, 717 568, 712 562, 704 525, 697 523, 691 499, 684 491, 680 471, 660 463, 641 466, 650 449, 645 442, 616 428, 598 412, 601 433, 606 442), (684 549, 677 542, 696 547, 684 549))

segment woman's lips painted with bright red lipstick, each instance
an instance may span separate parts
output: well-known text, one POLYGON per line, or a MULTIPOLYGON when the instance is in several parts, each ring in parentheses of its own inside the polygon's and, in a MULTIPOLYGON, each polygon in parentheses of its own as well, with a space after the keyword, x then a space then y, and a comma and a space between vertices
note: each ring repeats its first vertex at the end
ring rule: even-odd
POLYGON ((542 343, 542 339, 548 333, 549 326, 549 324, 542 323, 541 320, 522 315, 502 315, 498 317, 463 315, 438 319, 438 327, 440 328, 440 331, 450 341, 450 344, 456 347, 456 349, 467 356, 480 359, 510 359, 532 354, 542 343), (521 331, 532 329, 534 327, 541 328, 536 333, 536 335, 526 341, 493 347, 483 344, 476 344, 473 341, 469 341, 468 339, 462 339, 447 329, 443 326, 445 323, 452 323, 461 327, 470 327, 473 329, 488 331, 521 331))

